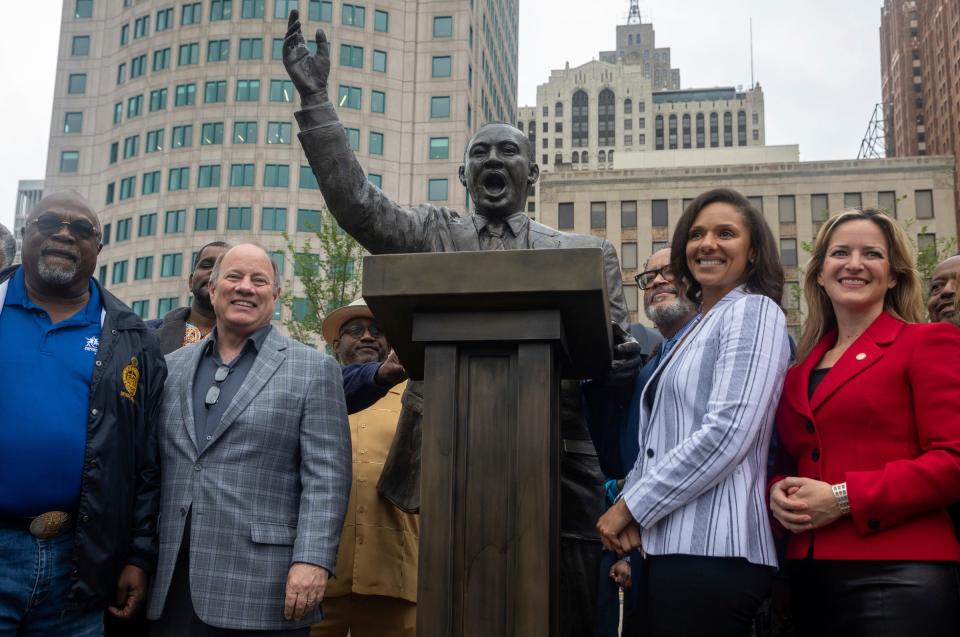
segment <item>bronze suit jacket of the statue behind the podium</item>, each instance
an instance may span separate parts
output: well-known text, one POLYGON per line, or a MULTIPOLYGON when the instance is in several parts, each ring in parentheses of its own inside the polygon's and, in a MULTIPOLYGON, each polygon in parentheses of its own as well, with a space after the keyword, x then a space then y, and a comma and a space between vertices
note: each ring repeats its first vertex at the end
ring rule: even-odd
MULTIPOLYGON (((429 204, 404 208, 369 183, 330 102, 299 111, 296 117, 301 130, 300 143, 330 212, 337 223, 372 254, 483 249, 480 239, 483 221, 476 215, 464 217, 449 208, 429 204)), ((624 330, 628 329, 629 314, 623 297, 620 264, 610 242, 560 232, 530 219, 526 223, 529 225, 523 247, 603 250, 610 318, 624 330)), ((418 510, 420 501, 420 392, 421 383, 412 382, 407 387, 396 439, 380 480, 382 495, 406 511, 418 510)), ((591 446, 577 383, 564 383, 561 430, 565 440, 585 443, 587 448, 591 446)), ((582 450, 584 445, 565 447, 582 450)), ((562 533, 567 537, 598 540, 594 523, 603 513, 603 476, 595 455, 584 456, 579 451, 565 453, 561 473, 562 533)))

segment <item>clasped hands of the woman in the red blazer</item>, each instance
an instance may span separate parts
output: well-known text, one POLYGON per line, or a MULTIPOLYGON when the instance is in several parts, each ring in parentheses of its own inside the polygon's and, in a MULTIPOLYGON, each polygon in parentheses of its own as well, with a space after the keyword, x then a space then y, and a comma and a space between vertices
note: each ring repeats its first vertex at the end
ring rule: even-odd
POLYGON ((770 512, 792 533, 823 528, 842 515, 828 483, 797 477, 770 488, 770 512))

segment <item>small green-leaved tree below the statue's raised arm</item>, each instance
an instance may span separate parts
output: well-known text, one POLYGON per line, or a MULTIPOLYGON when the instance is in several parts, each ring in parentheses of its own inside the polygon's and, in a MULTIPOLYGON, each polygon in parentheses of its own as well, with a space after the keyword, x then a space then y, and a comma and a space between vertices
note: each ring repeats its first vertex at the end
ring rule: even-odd
POLYGON ((299 246, 284 233, 287 261, 293 263, 294 276, 303 292, 302 296, 295 295, 290 286, 281 300, 287 308, 283 324, 290 337, 316 347, 323 342, 320 328, 327 313, 360 296, 364 250, 340 229, 326 209, 320 227, 310 229, 314 237, 299 246))

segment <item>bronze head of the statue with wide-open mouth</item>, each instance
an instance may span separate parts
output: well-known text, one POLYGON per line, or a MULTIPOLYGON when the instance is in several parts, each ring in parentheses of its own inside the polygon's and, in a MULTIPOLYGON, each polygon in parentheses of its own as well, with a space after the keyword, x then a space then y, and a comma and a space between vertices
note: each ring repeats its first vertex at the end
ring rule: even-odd
POLYGON ((489 124, 470 140, 462 183, 477 212, 505 217, 525 208, 527 190, 540 170, 529 159, 526 136, 509 124, 489 124))

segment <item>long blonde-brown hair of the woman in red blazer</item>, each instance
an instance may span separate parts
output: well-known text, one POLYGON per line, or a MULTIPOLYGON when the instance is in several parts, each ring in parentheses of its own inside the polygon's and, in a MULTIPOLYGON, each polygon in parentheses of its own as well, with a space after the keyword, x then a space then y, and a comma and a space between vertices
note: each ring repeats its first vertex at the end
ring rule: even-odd
POLYGON ((883 232, 887 240, 887 253, 890 261, 890 274, 897 284, 887 290, 883 298, 885 312, 907 323, 923 322, 923 282, 914 266, 910 241, 896 221, 878 208, 849 208, 837 214, 823 224, 813 246, 813 256, 807 264, 803 277, 803 296, 807 301, 807 320, 803 324, 800 344, 797 347, 797 360, 803 360, 824 334, 837 326, 837 316, 833 303, 826 291, 817 282, 823 262, 827 256, 830 237, 842 224, 850 221, 870 221, 883 232))

